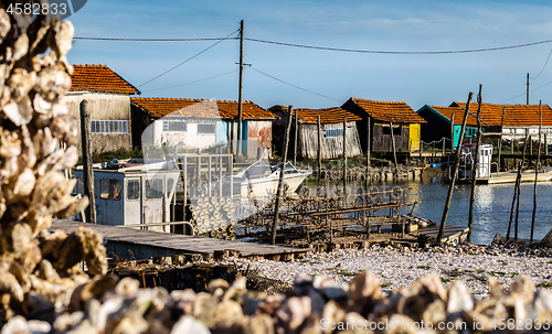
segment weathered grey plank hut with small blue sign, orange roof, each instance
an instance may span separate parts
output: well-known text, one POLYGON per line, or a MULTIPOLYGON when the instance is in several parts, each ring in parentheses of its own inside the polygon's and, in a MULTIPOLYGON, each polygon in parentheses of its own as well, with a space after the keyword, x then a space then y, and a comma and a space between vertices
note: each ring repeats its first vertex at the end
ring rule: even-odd
MULTIPOLYGON (((274 122, 274 142, 277 151, 282 150, 285 125, 288 121, 289 115, 287 108, 283 106, 274 106, 268 108, 269 111, 277 115, 280 119, 274 122)), ((360 117, 340 108, 323 108, 323 109, 294 109, 297 119, 297 155, 301 158, 316 159, 318 157, 318 125, 317 119, 320 116, 321 130, 321 147, 320 154, 322 159, 336 159, 343 155, 343 120, 347 121, 347 157, 357 157, 362 154, 360 148, 359 132, 357 130, 357 121, 360 117), (297 112, 297 114, 296 114, 297 112)), ((291 122, 290 133, 290 150, 294 150, 295 138, 295 120, 291 122)))

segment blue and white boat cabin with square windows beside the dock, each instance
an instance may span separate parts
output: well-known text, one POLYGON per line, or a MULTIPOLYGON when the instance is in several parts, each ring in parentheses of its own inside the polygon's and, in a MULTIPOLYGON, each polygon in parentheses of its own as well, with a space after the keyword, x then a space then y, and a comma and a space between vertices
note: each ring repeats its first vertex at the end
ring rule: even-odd
MULTIPOLYGON (((83 170, 76 170, 75 192, 84 195, 83 170)), ((170 222, 170 203, 179 177, 170 161, 144 163, 142 159, 102 163, 94 168, 96 223, 134 225, 170 222)), ((170 226, 149 229, 170 231, 170 226)))

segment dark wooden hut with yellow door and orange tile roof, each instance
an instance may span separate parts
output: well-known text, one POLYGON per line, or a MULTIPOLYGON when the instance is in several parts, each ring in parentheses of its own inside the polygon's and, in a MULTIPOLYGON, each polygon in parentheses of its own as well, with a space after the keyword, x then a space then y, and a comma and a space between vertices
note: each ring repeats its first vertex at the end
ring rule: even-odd
POLYGON ((365 151, 370 143, 371 152, 392 152, 391 133, 397 152, 420 150, 421 125, 426 121, 406 103, 351 97, 341 108, 360 117, 357 128, 362 150, 365 151), (367 130, 369 127, 370 132, 367 130))

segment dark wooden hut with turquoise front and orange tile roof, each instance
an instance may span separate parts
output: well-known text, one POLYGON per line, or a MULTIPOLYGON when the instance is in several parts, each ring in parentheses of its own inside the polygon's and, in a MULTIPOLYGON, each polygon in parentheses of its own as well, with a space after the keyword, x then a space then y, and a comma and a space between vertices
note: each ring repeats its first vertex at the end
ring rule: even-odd
MULTIPOLYGON (((477 108, 470 110, 477 112, 477 108)), ((477 133, 477 118, 473 111, 468 114, 465 138, 474 138, 477 133)), ((422 140, 425 143, 440 141, 443 138, 446 138, 448 147, 450 146, 450 140, 453 140, 454 148, 458 146, 461 121, 466 112, 464 108, 425 105, 416 112, 427 121, 422 125, 422 140)), ((489 125, 481 120, 481 127, 485 132, 489 125)))

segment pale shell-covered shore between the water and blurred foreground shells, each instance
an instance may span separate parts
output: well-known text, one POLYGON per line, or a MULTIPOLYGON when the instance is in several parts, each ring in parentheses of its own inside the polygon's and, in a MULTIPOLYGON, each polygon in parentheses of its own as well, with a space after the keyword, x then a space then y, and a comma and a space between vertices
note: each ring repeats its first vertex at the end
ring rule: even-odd
POLYGON ((552 287, 552 250, 518 249, 506 246, 428 247, 421 250, 373 246, 364 250, 342 249, 309 254, 289 262, 270 260, 238 260, 242 267, 258 270, 258 274, 293 283, 296 274, 326 276, 346 287, 364 269, 380 279, 382 290, 408 287, 415 280, 437 274, 446 287, 461 280, 476 299, 489 297, 489 279, 505 289, 519 277, 528 276, 537 289, 552 287))

